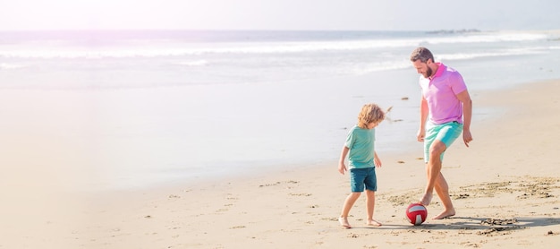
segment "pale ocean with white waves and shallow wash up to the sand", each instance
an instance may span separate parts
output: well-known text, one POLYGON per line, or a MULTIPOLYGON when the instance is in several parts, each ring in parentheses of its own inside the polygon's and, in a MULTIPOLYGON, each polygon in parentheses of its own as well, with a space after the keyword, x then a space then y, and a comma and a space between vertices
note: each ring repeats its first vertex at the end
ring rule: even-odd
MULTIPOLYGON (((560 36, 546 31, 1 31, 0 94, 21 105, 3 103, 0 128, 15 136, 29 122, 64 143, 38 167, 72 164, 86 189, 335 168, 368 102, 391 107, 379 154, 420 150, 418 46, 474 98, 560 78, 560 36)), ((475 105, 474 121, 495 114, 475 105)))

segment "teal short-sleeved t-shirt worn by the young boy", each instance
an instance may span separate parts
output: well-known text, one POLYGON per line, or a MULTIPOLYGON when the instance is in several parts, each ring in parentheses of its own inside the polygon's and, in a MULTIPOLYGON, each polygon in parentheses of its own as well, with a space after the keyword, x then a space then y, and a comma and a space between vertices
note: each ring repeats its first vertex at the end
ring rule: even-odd
POLYGON ((375 167, 373 163, 376 132, 373 129, 362 129, 358 125, 348 133, 344 146, 350 149, 348 162, 350 168, 375 167))

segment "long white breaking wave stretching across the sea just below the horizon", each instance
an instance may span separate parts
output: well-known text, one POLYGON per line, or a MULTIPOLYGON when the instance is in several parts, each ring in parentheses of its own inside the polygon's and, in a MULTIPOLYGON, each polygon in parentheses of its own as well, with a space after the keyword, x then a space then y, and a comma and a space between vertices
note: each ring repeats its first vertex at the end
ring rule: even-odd
MULTIPOLYGON (((134 57, 165 57, 165 56, 202 56, 220 54, 294 54, 317 52, 344 52, 361 50, 394 49, 399 47, 417 47, 425 44, 456 44, 456 43, 499 43, 519 42, 547 39, 544 34, 480 34, 460 36, 423 36, 400 39, 356 39, 356 40, 322 40, 322 41, 289 41, 289 42, 221 42, 202 43, 157 43, 147 46, 115 46, 105 47, 20 47, 2 49, 0 57, 4 58, 39 58, 39 59, 103 59, 103 58, 134 58, 134 57)), ((142 44, 145 44, 142 43, 142 44)))

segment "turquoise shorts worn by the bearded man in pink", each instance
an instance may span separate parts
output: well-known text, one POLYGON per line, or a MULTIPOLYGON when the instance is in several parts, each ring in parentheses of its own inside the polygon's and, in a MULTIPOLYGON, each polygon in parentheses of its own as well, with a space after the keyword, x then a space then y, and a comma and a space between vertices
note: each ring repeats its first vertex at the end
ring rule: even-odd
MULTIPOLYGON (((461 133, 462 124, 456 121, 441 125, 428 124, 426 137, 424 138, 424 162, 428 162, 429 147, 432 146, 434 141, 441 141, 445 143, 445 148, 449 148, 461 133)), ((441 153, 440 156, 442 160, 444 159, 444 153, 441 153)))

